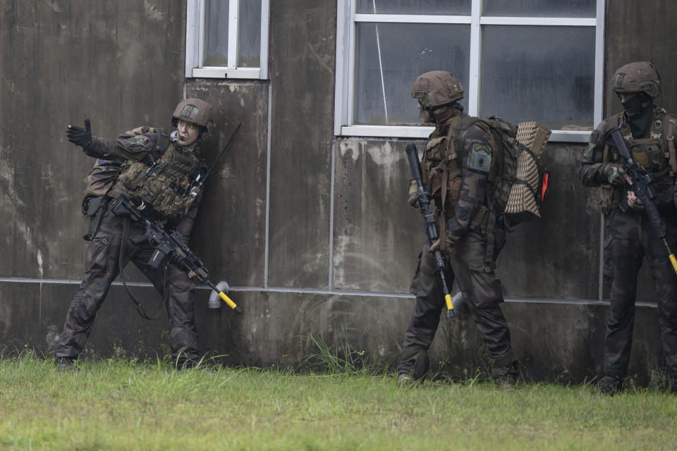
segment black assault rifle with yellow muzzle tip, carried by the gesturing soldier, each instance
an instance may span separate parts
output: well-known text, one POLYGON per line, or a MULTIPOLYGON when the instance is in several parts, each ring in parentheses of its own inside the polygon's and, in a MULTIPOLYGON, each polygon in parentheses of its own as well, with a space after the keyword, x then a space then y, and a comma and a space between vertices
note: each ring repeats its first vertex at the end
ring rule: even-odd
MULTIPOLYGON (((153 252, 148 261, 148 265, 151 268, 159 268, 164 259, 169 257, 177 266, 187 271, 190 278, 196 277, 200 282, 212 288, 228 304, 228 307, 231 307, 238 314, 242 314, 242 309, 209 280, 209 271, 205 268, 205 264, 185 245, 181 233, 178 233, 176 230, 172 233, 167 233, 161 223, 147 218, 142 209, 135 206, 125 196, 118 197, 113 206, 113 213, 119 216, 129 216, 132 221, 145 223, 146 232, 142 235, 131 237, 130 240, 137 245, 147 240, 155 248, 155 252, 153 252)), ((219 283, 220 285, 221 283, 219 283)))

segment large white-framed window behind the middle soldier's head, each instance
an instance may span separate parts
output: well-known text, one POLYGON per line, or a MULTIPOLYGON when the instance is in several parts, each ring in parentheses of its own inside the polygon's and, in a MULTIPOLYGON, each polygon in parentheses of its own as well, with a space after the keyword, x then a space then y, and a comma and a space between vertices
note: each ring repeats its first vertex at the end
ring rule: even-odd
POLYGON ((602 121, 604 0, 338 0, 343 136, 427 137, 411 85, 449 70, 471 116, 585 142, 602 121))

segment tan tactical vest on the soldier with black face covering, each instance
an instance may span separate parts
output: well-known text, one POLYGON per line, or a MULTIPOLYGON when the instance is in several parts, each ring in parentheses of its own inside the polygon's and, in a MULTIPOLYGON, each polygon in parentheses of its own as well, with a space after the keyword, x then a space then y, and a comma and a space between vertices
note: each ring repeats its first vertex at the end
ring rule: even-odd
MULTIPOLYGON (((654 123, 647 138, 635 138, 630 131, 630 125, 625 122, 623 113, 618 113, 609 119, 609 128, 620 124, 623 140, 628 144, 628 150, 633 160, 642 166, 651 175, 655 192, 660 193, 675 183, 677 173, 677 158, 674 145, 674 133, 677 118, 667 114, 664 109, 658 109, 654 123)), ((602 163, 624 163, 621 156, 613 147, 604 145, 602 163)), ((602 200, 604 209, 612 209, 626 196, 625 185, 611 185, 605 187, 602 200)))

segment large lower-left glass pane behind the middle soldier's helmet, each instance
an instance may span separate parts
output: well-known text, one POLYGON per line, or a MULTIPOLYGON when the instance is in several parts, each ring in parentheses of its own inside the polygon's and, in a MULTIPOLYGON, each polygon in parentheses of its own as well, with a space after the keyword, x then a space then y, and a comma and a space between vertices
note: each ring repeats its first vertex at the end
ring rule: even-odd
POLYGON ((468 84, 470 25, 358 23, 355 39, 354 124, 421 125, 411 86, 429 70, 468 84))

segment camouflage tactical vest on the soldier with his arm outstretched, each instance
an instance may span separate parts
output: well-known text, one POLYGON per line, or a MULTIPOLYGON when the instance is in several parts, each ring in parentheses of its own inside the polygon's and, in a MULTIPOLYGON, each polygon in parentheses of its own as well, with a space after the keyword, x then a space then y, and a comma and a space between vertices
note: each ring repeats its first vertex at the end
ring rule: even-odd
POLYGON ((156 161, 135 161, 121 173, 112 192, 139 199, 164 218, 183 216, 199 194, 197 176, 205 163, 195 152, 184 152, 169 142, 156 161))

